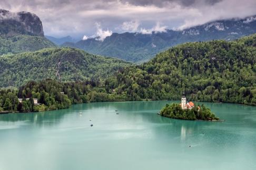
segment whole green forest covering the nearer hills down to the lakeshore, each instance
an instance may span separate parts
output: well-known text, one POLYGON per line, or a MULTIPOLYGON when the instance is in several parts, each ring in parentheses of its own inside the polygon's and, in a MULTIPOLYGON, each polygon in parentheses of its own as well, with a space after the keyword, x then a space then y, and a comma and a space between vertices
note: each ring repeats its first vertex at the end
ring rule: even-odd
POLYGON ((58 80, 2 89, 0 109, 38 111, 82 102, 179 100, 183 92, 191 101, 256 105, 255 56, 256 35, 234 41, 189 42, 139 66, 72 48, 1 57, 1 86, 22 84, 24 79, 58 80), (18 103, 18 98, 24 103, 18 103), (33 98, 42 104, 34 106, 33 98))

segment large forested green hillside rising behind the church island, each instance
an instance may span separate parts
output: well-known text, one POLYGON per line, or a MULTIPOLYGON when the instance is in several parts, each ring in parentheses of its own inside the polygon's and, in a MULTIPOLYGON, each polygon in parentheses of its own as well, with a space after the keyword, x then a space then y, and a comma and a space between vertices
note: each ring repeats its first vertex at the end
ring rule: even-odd
POLYGON ((256 35, 234 41, 189 42, 106 80, 127 100, 180 99, 256 105, 256 35))

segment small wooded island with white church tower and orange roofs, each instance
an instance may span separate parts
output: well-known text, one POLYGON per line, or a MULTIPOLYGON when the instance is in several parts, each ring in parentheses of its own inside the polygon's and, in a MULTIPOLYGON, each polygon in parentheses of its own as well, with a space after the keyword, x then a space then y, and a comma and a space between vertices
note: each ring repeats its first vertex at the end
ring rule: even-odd
POLYGON ((182 96, 180 104, 166 104, 160 111, 160 115, 172 119, 220 121, 220 119, 203 104, 195 107, 193 102, 186 103, 185 96, 182 96))

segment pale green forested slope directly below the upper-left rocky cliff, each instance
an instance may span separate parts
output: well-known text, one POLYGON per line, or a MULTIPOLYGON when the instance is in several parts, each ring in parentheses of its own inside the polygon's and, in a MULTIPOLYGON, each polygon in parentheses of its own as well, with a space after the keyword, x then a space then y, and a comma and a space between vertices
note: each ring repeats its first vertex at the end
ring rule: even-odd
POLYGON ((43 48, 56 47, 50 40, 41 36, 16 35, 0 36, 0 55, 17 54, 19 52, 36 51, 43 48))

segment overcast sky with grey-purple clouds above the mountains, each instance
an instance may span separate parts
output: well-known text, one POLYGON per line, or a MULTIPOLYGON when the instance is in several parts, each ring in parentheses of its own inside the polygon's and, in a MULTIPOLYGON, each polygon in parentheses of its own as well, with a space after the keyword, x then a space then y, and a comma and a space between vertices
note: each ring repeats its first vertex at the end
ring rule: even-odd
POLYGON ((45 35, 104 39, 115 32, 150 34, 255 15, 256 0, 1 0, 0 8, 35 13, 45 35))

